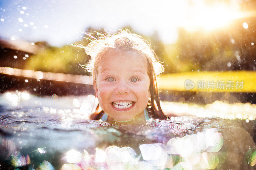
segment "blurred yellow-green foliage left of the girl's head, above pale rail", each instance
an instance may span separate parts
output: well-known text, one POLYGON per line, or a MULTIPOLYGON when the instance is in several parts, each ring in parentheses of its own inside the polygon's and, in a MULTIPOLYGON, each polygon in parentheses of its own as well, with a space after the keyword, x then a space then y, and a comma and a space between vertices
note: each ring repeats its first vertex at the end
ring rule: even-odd
POLYGON ((83 48, 74 46, 64 46, 61 48, 46 46, 36 55, 32 55, 25 69, 84 74, 84 69, 79 66, 78 61, 84 64, 88 61, 88 58, 83 48))

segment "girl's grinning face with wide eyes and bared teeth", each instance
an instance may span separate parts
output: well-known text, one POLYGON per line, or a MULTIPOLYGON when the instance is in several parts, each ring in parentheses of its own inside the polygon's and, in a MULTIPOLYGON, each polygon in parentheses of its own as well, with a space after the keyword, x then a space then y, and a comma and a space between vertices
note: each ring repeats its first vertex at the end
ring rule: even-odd
POLYGON ((100 107, 116 121, 144 115, 149 85, 146 59, 135 51, 111 51, 104 55, 93 83, 100 107))

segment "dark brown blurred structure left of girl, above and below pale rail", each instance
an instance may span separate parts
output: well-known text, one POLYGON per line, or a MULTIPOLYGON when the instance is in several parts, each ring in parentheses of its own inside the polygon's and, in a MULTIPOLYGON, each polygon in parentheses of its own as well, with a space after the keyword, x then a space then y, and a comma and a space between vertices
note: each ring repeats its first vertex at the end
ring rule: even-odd
MULTIPOLYGON (((28 58, 44 46, 31 44, 27 41, 7 41, 0 39, 0 67, 24 69, 28 58)), ((74 77, 75 78, 75 77, 74 77)), ((52 81, 0 73, 0 92, 24 91, 35 95, 86 95, 93 94, 92 85, 52 81)))

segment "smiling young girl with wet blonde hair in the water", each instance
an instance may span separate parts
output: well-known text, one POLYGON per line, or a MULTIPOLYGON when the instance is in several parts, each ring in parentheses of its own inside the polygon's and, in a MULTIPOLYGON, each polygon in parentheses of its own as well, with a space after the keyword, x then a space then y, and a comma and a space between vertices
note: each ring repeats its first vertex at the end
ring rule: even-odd
POLYGON ((99 100, 91 120, 167 119, 156 84, 156 75, 164 68, 146 41, 124 30, 92 38, 84 47, 92 57, 87 70, 92 72, 95 97, 99 100))

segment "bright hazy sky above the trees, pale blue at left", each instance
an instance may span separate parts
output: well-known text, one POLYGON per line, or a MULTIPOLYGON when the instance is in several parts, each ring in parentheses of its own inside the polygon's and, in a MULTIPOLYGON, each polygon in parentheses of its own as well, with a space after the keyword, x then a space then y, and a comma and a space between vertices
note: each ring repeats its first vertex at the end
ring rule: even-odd
POLYGON ((173 43, 180 27, 218 29, 244 15, 238 0, 0 0, 0 37, 60 47, 81 40, 89 27, 114 33, 131 26, 144 35, 157 31, 162 41, 173 43))

